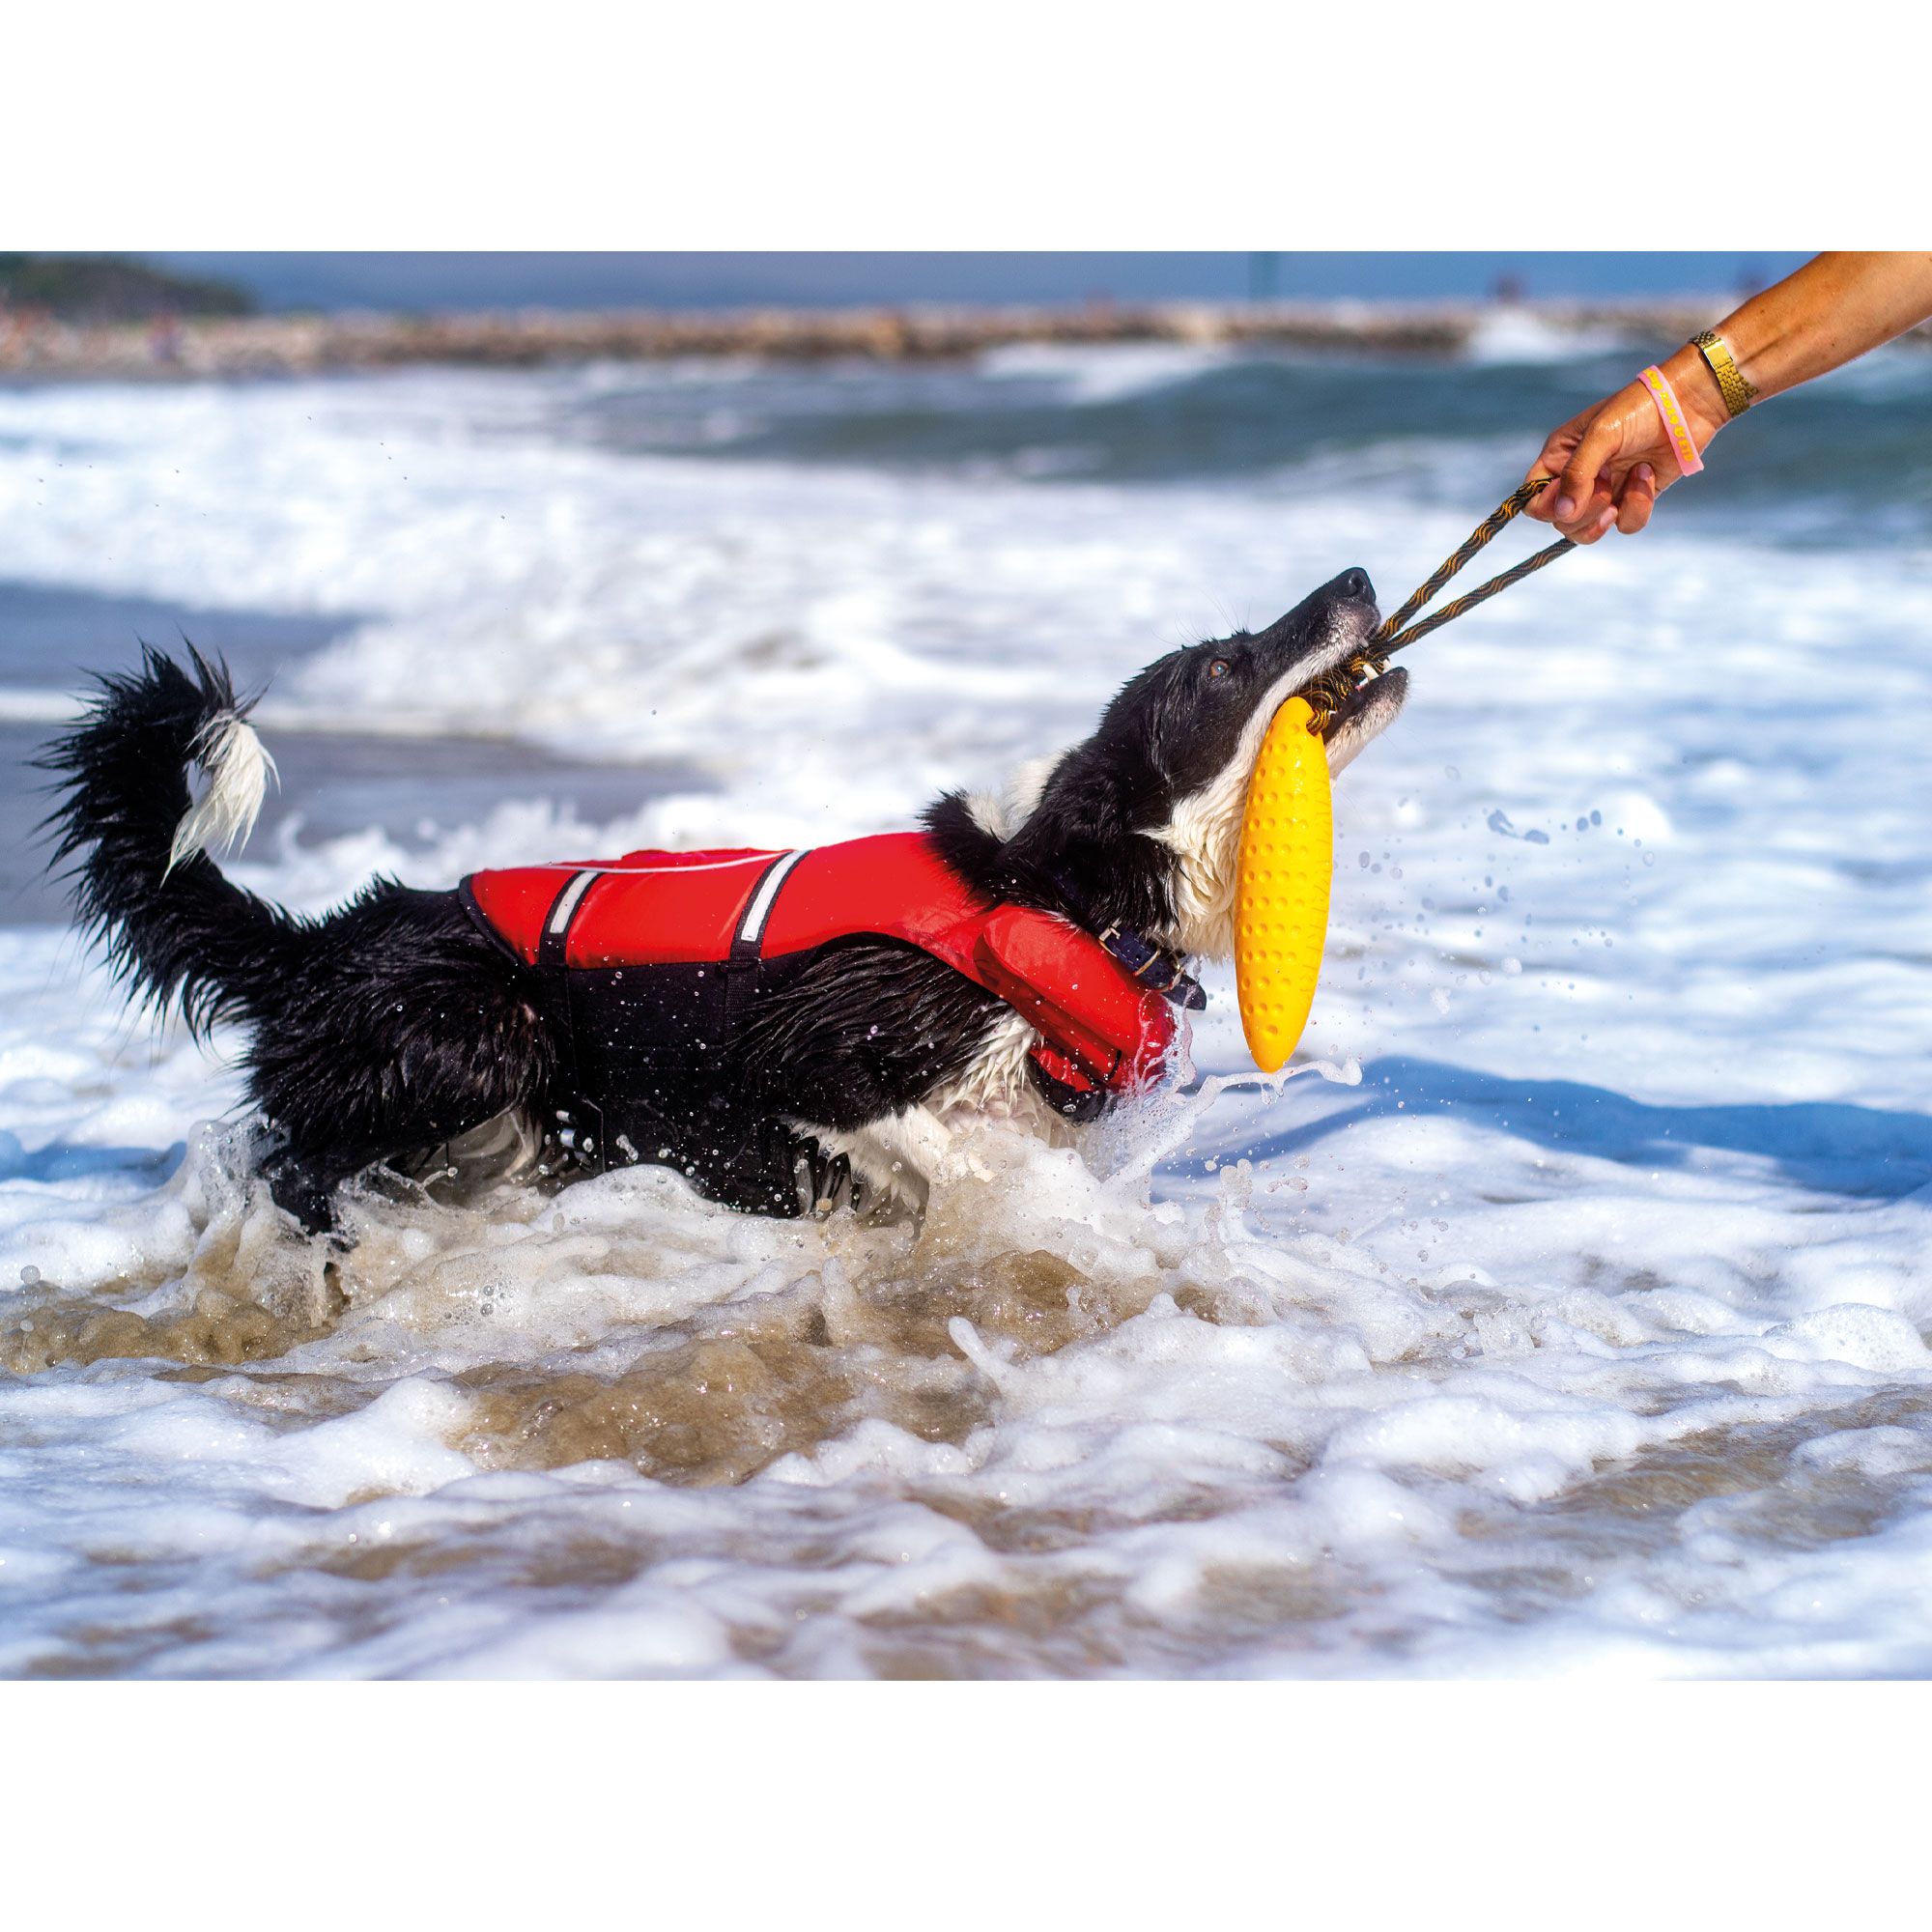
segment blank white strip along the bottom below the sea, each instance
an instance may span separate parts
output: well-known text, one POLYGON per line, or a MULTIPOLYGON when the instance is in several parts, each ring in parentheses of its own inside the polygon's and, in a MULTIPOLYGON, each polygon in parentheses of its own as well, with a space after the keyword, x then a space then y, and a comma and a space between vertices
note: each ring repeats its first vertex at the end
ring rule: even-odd
POLYGON ((1913 1685, 0 1689, 21 1926, 1911 1913, 1913 1685))

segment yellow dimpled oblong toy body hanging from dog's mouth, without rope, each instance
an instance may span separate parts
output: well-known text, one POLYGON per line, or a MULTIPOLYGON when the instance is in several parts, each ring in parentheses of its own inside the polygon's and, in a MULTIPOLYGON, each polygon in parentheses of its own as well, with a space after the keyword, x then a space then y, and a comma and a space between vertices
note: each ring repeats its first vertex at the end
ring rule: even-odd
POLYGON ((1327 748, 1291 697, 1267 726, 1248 781, 1235 873, 1240 1028, 1262 1072, 1279 1072, 1308 1024, 1327 941, 1335 831, 1327 748))

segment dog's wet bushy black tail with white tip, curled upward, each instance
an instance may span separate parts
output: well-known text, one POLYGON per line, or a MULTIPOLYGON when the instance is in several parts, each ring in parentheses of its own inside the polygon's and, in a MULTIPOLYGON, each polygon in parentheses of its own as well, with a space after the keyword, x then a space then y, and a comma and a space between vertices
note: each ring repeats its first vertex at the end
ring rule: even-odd
POLYGON ((305 947, 301 922, 211 856, 247 838, 274 761, 228 667, 187 655, 191 668, 143 649, 139 670, 100 678, 81 724, 37 763, 60 777, 54 864, 81 854, 68 873, 79 925, 122 980, 207 1032, 272 1010, 305 947))

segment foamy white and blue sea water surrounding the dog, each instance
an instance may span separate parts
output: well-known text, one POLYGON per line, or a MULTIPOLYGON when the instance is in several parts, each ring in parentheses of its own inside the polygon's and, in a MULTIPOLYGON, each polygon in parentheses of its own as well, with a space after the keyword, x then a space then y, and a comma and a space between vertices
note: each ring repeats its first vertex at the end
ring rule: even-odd
MULTIPOLYGON (((247 885, 900 827, 1159 651, 1393 605, 1636 346, 0 390, 0 1673, 1932 1667, 1932 359, 1430 638, 1304 1051, 922 1229, 249 1182, 19 757, 187 634, 247 885)), ((1517 554, 1511 533, 1490 554, 1517 554)))

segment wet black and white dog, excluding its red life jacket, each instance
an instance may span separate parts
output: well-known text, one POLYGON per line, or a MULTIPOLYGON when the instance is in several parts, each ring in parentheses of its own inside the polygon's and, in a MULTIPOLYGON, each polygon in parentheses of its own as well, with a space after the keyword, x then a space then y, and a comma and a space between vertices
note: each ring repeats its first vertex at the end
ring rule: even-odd
MULTIPOLYGON (((1362 667, 1376 622, 1368 576, 1347 570, 1264 632, 1171 651, 1084 744, 999 792, 929 806, 933 850, 985 900, 1140 933, 1175 958, 1227 958, 1248 777, 1279 705, 1356 667, 1325 732, 1333 771, 1401 709, 1405 674, 1362 667)), ((226 668, 189 659, 149 651, 100 680, 85 721, 43 757, 60 775, 50 825, 56 860, 77 858, 77 920, 120 976, 197 1032, 251 1030, 274 1198, 323 1229, 344 1180, 379 1163, 423 1173, 479 1134, 549 1148, 533 1157, 554 1167, 570 1140, 554 1122, 580 1095, 570 1014, 547 978, 456 891, 379 879, 307 920, 224 879, 209 854, 247 835, 270 763, 226 668)), ((848 1180, 923 1196, 920 1175, 962 1113, 1061 1130, 1028 1082, 1030 1041, 1022 1012, 929 952, 829 945, 761 985, 699 1072, 651 1095, 659 1144, 641 1157, 761 1211, 802 1211, 848 1180)))

